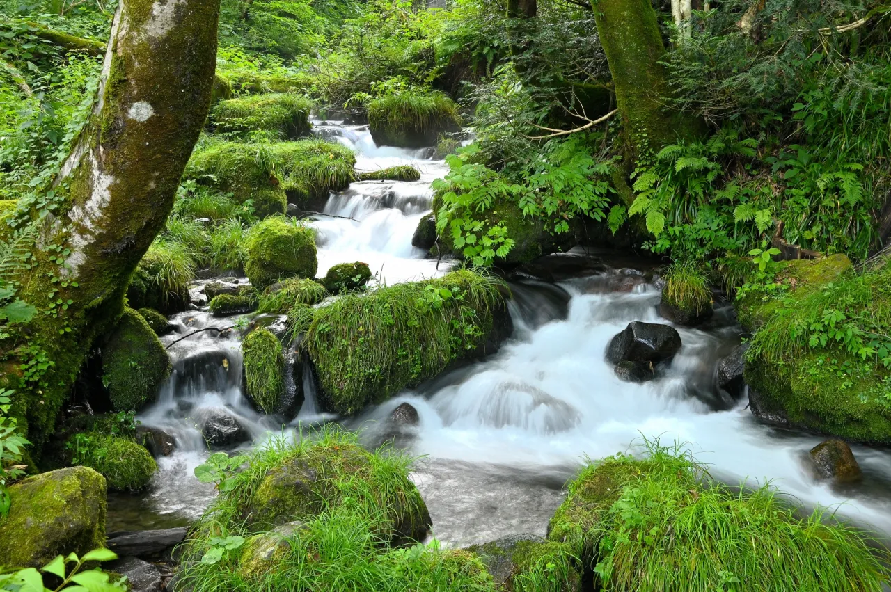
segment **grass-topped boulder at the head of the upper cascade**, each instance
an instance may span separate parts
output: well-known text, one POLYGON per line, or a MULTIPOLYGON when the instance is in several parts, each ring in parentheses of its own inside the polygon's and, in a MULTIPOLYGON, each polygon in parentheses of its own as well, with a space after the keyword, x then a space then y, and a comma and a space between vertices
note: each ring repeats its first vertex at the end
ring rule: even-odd
POLYGON ((436 143, 443 132, 460 127, 461 117, 445 94, 406 89, 372 100, 368 124, 378 144, 423 148, 436 143))

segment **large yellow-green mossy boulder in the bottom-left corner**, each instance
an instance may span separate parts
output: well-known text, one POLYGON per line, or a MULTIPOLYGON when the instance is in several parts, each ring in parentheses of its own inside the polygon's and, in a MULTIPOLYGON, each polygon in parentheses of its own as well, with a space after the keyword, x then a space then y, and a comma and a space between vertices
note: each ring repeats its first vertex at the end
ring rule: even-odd
POLYGON ((43 567, 55 556, 105 546, 105 478, 73 466, 38 474, 9 488, 0 519, 0 565, 43 567))

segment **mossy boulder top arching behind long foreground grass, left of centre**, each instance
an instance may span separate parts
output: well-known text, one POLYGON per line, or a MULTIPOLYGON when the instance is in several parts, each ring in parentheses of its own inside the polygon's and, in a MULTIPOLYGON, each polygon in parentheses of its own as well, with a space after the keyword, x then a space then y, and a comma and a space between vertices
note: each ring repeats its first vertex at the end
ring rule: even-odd
POLYGON ((404 474, 393 474, 361 446, 351 443, 306 447, 269 470, 241 507, 253 531, 267 531, 318 515, 347 496, 378 499, 386 512, 391 545, 423 540, 431 524, 427 505, 404 474), (355 488, 355 489, 354 489, 355 488))

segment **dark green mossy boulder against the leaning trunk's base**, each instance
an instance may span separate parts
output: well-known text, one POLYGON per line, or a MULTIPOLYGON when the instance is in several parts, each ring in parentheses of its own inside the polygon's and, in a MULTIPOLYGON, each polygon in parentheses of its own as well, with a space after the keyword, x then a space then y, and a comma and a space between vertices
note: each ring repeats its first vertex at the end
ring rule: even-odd
POLYGON ((154 401, 171 369, 167 350, 143 315, 125 308, 102 345, 102 383, 114 409, 136 411, 154 401))

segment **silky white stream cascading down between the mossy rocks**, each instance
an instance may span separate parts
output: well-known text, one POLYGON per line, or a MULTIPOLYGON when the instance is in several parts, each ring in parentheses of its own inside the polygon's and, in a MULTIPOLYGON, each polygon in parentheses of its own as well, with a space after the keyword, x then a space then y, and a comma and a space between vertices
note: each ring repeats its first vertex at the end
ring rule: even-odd
MULTIPOLYGON (((418 182, 356 182, 332 194, 325 207, 330 216, 313 223, 319 275, 353 261, 369 264, 375 280, 388 284, 446 272, 446 264, 437 268, 411 245, 429 212, 430 182, 445 174, 445 163, 430 159, 431 150, 378 147, 365 126, 316 122, 315 130, 356 149, 359 170, 413 164, 422 174, 418 182)), ((657 313, 658 288, 642 272, 648 264, 575 250, 551 259, 569 270, 556 283, 511 282, 515 330, 499 353, 347 421, 363 428, 370 445, 395 435, 397 446, 422 456, 413 478, 437 539, 463 546, 520 532, 544 534, 563 484, 584 458, 633 451, 643 436, 685 442, 726 483, 771 481, 805 506, 838 508, 891 535, 887 450, 854 447, 861 483, 819 482, 807 451, 822 438, 765 426, 746 401, 716 386, 717 362, 740 342, 729 305, 719 306, 701 330, 678 329, 683 348, 656 380, 625 383, 604 360, 609 340, 632 320, 667 322, 657 313), (405 401, 418 410, 420 426, 394 433, 388 416, 405 401)), ((203 331, 170 347, 173 375, 138 419, 173 435, 177 450, 159 459, 150 491, 111 499, 109 531, 171 526, 200 515, 213 497, 212 488, 192 475, 208 455, 197 427, 208 414, 225 410, 255 443, 300 423, 333 419, 318 413, 310 381, 289 426, 251 408, 241 390, 240 334, 231 328, 236 320, 204 310, 176 315, 179 331, 163 338, 166 345, 199 328, 226 330, 203 331)))

